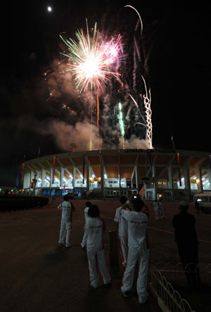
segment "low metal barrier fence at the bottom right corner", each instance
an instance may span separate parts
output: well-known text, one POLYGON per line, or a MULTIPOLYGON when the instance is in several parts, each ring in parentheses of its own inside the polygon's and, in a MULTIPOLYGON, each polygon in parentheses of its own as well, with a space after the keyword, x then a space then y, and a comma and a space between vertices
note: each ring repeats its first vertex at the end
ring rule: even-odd
POLYGON ((183 263, 173 262, 151 264, 149 286, 162 311, 195 312, 188 301, 182 299, 179 292, 172 286, 172 284, 186 285, 187 280, 211 286, 211 263, 208 265, 200 263, 197 266, 194 263, 184 266, 183 263))

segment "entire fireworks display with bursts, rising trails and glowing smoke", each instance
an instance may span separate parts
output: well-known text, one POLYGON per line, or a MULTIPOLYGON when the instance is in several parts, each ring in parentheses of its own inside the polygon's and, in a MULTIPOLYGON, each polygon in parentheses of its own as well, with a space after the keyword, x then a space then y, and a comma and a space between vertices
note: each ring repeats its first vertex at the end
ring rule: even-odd
POLYGON ((150 85, 147 61, 151 49, 148 51, 142 35, 141 15, 133 6, 124 7, 129 8, 129 13, 132 13, 132 9, 138 14, 134 44, 131 39, 127 41, 127 37, 118 35, 119 32, 109 36, 106 30, 98 31, 97 24, 91 30, 88 24, 87 30, 77 30, 72 39, 66 37, 65 32, 60 32, 65 45, 64 57, 59 63, 53 63, 53 70, 46 70, 43 74, 44 80, 49 80, 49 97, 46 101, 58 99, 62 109, 70 113, 70 118, 75 116, 71 121, 73 124, 76 118, 82 120, 89 118, 90 114, 90 150, 92 142, 96 140, 95 123, 96 132, 103 138, 105 146, 116 144, 113 133, 118 132, 123 149, 124 146, 130 146, 132 136, 139 139, 145 137, 147 146, 153 148, 151 92, 143 80, 143 76, 146 77, 147 85, 150 85), (141 37, 137 32, 139 27, 141 37), (74 99, 71 96, 69 101, 70 94, 74 99), (79 105, 74 106, 72 102, 76 97, 79 105), (86 107, 83 114, 79 113, 82 106, 86 107), (75 111, 72 111, 72 107, 75 111))

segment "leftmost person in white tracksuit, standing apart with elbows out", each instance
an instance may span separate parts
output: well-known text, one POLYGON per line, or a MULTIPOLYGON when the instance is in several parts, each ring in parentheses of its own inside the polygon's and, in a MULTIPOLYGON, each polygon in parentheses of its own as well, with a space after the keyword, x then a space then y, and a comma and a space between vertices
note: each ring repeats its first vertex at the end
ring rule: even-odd
POLYGON ((70 247, 70 235, 71 235, 71 220, 72 220, 72 209, 69 202, 69 196, 66 194, 63 197, 64 201, 57 208, 62 211, 61 221, 60 221, 60 235, 58 244, 60 247, 63 246, 66 234, 66 248, 70 247))

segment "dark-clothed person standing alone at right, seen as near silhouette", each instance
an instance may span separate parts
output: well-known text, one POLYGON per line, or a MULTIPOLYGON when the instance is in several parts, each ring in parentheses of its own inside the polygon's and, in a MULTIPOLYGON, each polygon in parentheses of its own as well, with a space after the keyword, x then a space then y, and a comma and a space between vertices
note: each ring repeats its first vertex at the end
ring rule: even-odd
POLYGON ((174 216, 174 238, 178 246, 178 253, 183 263, 188 284, 197 286, 200 283, 198 270, 198 238, 195 229, 196 220, 187 212, 188 203, 180 202, 180 212, 174 216))

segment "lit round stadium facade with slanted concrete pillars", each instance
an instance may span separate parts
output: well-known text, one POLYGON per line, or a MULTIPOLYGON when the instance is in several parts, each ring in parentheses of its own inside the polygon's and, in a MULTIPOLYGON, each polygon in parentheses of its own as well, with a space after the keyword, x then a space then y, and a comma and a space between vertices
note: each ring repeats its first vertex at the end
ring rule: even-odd
POLYGON ((145 199, 191 200, 211 191, 209 153, 171 149, 110 149, 75 151, 25 162, 23 188, 27 194, 129 196, 145 199))

